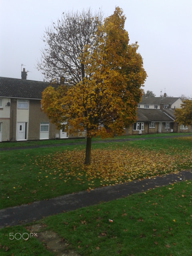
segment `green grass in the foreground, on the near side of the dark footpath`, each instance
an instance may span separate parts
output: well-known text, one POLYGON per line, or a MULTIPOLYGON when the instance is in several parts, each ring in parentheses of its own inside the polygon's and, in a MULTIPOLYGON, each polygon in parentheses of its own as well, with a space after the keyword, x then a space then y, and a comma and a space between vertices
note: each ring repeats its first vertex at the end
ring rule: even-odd
MULTIPOLYGON (((82 256, 190 256, 192 182, 147 190, 36 223, 42 230, 56 232, 82 256)), ((1 229, 0 255, 55 255, 36 238, 10 240, 10 233, 24 232, 28 232, 24 226, 1 229)))

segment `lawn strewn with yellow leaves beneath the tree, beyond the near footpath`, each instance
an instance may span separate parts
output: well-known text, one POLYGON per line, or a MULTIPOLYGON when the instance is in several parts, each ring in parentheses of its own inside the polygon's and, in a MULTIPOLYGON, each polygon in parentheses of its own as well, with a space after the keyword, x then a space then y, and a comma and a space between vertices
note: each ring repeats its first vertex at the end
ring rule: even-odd
POLYGON ((0 208, 192 168, 192 137, 0 151, 0 208))

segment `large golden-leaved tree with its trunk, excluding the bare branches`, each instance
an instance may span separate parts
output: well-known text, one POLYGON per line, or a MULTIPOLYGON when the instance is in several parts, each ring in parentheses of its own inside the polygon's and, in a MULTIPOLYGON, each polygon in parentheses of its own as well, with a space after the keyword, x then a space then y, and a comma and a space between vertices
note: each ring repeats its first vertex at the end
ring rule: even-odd
POLYGON ((136 120, 146 72, 138 44, 128 44, 125 20, 117 7, 98 25, 93 46, 86 44, 78 56, 82 80, 74 86, 49 86, 42 94, 43 111, 58 127, 67 121, 69 133, 86 129, 85 164, 90 164, 92 137, 122 134, 136 120))

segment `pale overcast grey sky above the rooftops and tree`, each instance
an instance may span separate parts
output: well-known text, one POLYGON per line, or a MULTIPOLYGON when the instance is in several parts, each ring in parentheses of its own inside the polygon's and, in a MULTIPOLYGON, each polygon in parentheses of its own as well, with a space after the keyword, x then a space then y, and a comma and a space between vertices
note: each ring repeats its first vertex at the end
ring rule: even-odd
POLYGON ((43 81, 36 70, 45 28, 62 12, 91 8, 110 16, 119 6, 130 43, 138 42, 148 78, 145 91, 156 96, 192 97, 192 0, 0 0, 0 76, 43 81))

